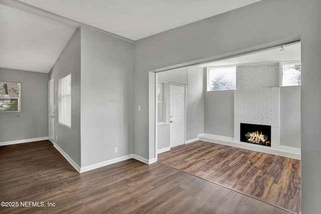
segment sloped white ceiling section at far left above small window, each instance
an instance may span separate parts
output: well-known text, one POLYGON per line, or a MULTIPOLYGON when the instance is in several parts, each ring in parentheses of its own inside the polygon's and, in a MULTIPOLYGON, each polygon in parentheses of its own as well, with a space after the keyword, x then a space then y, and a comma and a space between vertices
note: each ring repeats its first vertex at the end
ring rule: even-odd
POLYGON ((0 4, 0 67, 48 73, 75 29, 0 4))

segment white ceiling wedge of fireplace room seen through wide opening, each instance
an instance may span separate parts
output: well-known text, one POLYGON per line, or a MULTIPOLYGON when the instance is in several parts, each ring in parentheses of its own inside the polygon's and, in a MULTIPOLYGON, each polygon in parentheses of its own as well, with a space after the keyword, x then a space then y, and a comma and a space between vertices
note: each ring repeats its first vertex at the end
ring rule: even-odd
POLYGON ((211 62, 201 65, 202 67, 225 66, 225 65, 242 65, 253 63, 269 63, 269 62, 289 62, 301 61, 301 43, 283 45, 263 50, 255 53, 246 54, 243 56, 233 57, 217 62, 211 62), (282 51, 280 51, 282 50, 282 51))

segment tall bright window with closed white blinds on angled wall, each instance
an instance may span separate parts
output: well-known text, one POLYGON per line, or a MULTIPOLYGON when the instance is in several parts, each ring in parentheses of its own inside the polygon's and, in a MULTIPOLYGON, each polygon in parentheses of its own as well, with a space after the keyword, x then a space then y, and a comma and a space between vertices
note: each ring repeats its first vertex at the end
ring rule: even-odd
POLYGON ((71 74, 58 80, 58 122, 71 127, 71 74))

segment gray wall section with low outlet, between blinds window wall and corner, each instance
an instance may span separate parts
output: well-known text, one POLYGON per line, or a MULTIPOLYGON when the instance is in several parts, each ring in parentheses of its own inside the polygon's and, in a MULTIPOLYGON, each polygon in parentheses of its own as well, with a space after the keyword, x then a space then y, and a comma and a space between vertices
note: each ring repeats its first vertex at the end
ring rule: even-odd
POLYGON ((82 167, 133 153, 132 65, 132 43, 82 27, 82 167))

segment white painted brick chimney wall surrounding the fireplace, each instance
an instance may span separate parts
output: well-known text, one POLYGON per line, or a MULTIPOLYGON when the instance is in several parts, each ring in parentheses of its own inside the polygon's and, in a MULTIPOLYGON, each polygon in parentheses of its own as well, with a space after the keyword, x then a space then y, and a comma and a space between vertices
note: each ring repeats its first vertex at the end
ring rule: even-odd
POLYGON ((234 92, 234 140, 240 141, 240 123, 270 125, 271 147, 279 147, 278 69, 277 63, 238 67, 239 87, 234 92))

